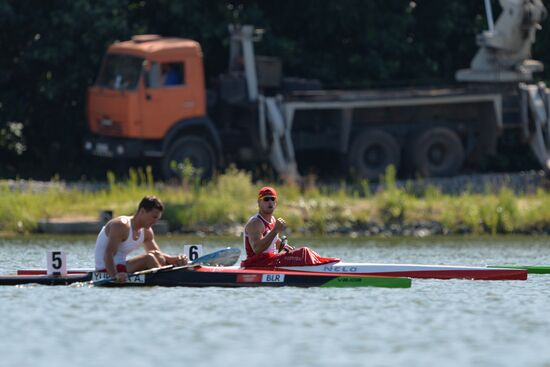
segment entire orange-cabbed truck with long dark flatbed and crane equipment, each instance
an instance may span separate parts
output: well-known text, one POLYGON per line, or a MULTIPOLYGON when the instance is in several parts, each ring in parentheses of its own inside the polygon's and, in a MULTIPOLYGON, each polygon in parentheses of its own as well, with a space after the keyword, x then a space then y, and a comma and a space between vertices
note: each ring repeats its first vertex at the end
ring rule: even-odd
POLYGON ((228 27, 228 70, 208 87, 196 41, 137 35, 114 43, 88 90, 84 148, 151 160, 165 177, 185 162, 203 177, 233 163, 267 163, 283 180, 327 165, 368 180, 390 165, 445 177, 483 169, 501 146, 547 171, 550 92, 533 82, 543 65, 530 59, 546 9, 540 0, 500 0, 494 22, 485 5, 479 50, 447 88, 326 90, 287 78, 280 59, 255 55, 262 33, 251 25, 228 27))

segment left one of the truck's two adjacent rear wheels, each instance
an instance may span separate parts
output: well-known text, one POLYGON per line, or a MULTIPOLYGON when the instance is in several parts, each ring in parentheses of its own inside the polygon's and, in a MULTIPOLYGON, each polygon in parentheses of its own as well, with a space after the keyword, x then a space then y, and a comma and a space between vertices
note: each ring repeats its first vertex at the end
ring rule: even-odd
POLYGON ((399 168, 401 148, 393 136, 383 130, 366 130, 351 144, 348 164, 352 173, 377 180, 392 164, 399 168))

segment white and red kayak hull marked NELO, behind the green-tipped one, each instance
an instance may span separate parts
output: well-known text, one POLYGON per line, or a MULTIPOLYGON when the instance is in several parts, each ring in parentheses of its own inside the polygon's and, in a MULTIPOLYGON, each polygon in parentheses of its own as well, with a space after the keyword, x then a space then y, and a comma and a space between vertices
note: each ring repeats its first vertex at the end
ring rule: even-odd
POLYGON ((414 265, 414 264, 369 264, 335 262, 322 265, 285 266, 272 270, 316 272, 342 275, 377 275, 421 279, 472 279, 472 280, 526 280, 524 268, 414 265))

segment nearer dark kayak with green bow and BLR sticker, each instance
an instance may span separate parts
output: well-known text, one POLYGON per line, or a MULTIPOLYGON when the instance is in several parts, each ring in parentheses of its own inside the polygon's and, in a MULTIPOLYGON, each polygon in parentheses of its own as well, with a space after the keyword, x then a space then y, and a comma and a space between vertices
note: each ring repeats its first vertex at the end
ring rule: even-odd
POLYGON ((236 267, 202 266, 163 269, 142 274, 129 274, 128 282, 114 283, 105 272, 71 272, 64 276, 44 273, 0 276, 0 285, 43 284, 161 286, 161 287, 382 287, 410 288, 410 278, 362 276, 358 274, 328 274, 286 270, 247 270, 236 267), (105 281, 107 280, 107 281, 105 281))

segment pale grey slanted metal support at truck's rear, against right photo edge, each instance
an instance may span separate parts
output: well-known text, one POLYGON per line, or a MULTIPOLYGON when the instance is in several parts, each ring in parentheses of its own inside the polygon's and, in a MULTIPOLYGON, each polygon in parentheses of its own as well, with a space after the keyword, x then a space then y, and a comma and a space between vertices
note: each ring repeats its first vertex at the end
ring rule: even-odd
POLYGON ((522 133, 546 173, 550 172, 550 89, 544 83, 519 85, 522 133))

